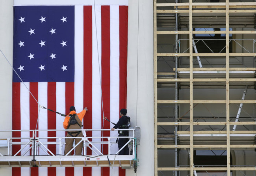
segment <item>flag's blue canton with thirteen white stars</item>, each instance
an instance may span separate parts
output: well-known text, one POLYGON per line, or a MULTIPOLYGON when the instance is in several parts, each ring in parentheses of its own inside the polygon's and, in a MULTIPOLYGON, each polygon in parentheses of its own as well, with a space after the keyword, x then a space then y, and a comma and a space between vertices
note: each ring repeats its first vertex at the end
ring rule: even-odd
MULTIPOLYGON (((74 82, 74 6, 15 6, 13 67, 24 82, 74 82)), ((13 72, 13 82, 21 82, 13 72)))

